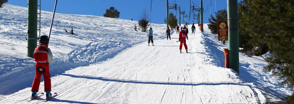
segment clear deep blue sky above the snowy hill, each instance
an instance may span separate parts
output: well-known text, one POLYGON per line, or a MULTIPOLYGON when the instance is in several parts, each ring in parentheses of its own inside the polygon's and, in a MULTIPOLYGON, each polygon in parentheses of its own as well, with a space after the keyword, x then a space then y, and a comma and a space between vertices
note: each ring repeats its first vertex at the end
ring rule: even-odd
MULTIPOLYGON (((170 5, 176 3, 181 6, 181 11, 185 11, 185 15, 189 17, 190 0, 168 0, 168 2, 170 5)), ((191 6, 200 7, 200 2, 201 0, 191 0, 191 6)), ((27 3, 28 0, 8 0, 6 4, 27 7, 27 3)), ((54 4, 55 0, 41 0, 41 10, 53 12, 54 4)), ((150 14, 150 5, 151 0, 58 0, 56 13, 103 16, 106 9, 113 6, 120 12, 120 19, 138 21, 145 8, 150 14)), ((227 0, 203 0, 203 8, 203 22, 208 23, 210 14, 215 15, 216 11, 227 9, 227 0)), ((179 16, 178 10, 170 9, 169 12, 177 13, 177 16, 179 16)), ((182 17, 183 15, 181 15, 181 20, 183 19, 182 17)), ((153 0, 151 22, 165 24, 164 18, 166 18, 166 0, 153 0)), ((192 24, 192 21, 193 14, 191 10, 190 24, 192 24)))

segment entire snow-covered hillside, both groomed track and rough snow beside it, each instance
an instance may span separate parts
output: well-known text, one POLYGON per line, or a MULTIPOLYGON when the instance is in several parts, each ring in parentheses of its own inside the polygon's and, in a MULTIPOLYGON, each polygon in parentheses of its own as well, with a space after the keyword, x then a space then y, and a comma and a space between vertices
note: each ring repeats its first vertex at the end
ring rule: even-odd
MULTIPOLYGON (((44 97, 26 102, 35 72, 26 57, 27 8, 0 10, 0 103, 40 103, 44 97)), ((49 33, 51 15, 42 14, 42 35, 49 33)), ((271 103, 293 92, 262 71, 262 58, 240 53, 240 75, 223 68, 227 45, 206 24, 204 33, 196 25, 191 34, 188 26, 189 53, 179 53, 175 31, 166 40, 166 25, 152 24, 155 46, 147 46, 147 33, 133 29, 137 23, 57 13, 49 48, 52 92, 59 95, 50 103, 271 103), (64 32, 71 27, 75 35, 64 32)))

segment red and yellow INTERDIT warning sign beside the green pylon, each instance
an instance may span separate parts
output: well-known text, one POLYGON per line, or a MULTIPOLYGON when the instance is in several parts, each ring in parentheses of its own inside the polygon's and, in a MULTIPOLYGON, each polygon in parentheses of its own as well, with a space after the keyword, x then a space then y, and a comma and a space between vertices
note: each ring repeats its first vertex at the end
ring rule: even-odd
POLYGON ((228 40, 227 22, 218 22, 218 41, 228 40))

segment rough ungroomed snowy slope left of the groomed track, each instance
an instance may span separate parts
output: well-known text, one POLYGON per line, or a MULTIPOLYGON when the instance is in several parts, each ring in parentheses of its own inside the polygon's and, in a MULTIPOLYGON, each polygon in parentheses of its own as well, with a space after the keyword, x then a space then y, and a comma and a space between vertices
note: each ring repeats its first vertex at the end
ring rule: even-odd
MULTIPOLYGON (((0 94, 11 94, 31 86, 35 63, 26 57, 27 8, 6 4, 0 10, 0 94)), ((52 14, 42 11, 41 35, 49 35, 52 14)), ((134 31, 137 21, 59 13, 54 20, 49 43, 54 55, 51 76, 105 61, 147 37, 146 32, 134 31), (71 27, 75 35, 69 33, 71 27)), ((164 25, 152 26, 154 38, 163 39, 164 25)))

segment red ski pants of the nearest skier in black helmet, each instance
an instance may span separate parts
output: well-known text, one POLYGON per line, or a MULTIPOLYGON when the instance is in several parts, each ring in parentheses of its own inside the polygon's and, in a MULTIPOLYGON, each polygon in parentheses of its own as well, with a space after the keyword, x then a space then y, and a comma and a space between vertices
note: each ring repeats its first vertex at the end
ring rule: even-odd
POLYGON ((41 76, 43 74, 44 77, 44 91, 51 91, 51 79, 50 79, 50 73, 49 73, 49 65, 48 63, 36 63, 36 76, 34 78, 34 82, 32 85, 32 89, 31 91, 37 91, 39 92, 39 86, 40 86, 40 81, 41 81, 41 76), (41 73, 37 70, 37 67, 44 67, 45 68, 45 72, 41 73))

